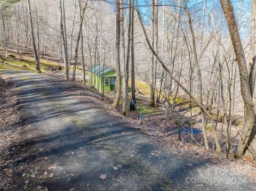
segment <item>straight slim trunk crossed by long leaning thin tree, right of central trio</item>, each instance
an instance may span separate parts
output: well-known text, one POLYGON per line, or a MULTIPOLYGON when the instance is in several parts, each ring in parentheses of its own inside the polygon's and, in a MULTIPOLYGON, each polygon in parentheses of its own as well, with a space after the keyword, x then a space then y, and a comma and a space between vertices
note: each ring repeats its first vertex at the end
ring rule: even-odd
MULTIPOLYGON (((151 2, 151 46, 154 49, 154 32, 155 32, 155 0, 151 2)), ((151 54, 151 65, 149 65, 149 85, 150 85, 150 105, 155 106, 155 91, 154 91, 154 54, 151 54)))

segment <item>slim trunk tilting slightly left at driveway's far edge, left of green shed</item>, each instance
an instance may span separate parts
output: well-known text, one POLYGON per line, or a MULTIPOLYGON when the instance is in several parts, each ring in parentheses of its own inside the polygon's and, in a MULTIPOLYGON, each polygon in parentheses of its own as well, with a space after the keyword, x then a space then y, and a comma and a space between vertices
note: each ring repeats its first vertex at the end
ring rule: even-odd
POLYGON ((65 67, 65 79, 68 80, 68 54, 67 54, 67 46, 64 36, 64 29, 63 29, 63 16, 62 16, 62 2, 60 0, 60 35, 61 35, 61 43, 62 43, 62 54, 63 54, 63 62, 65 67))

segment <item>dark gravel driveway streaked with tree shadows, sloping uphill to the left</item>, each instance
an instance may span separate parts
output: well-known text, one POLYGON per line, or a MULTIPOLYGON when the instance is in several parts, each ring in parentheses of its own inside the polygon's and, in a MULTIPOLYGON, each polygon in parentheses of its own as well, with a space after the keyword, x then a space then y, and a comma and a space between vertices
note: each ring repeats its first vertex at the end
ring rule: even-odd
MULTIPOLYGON (((49 190, 254 190, 242 170, 170 148, 105 109, 89 88, 25 70, 5 71, 20 88, 23 126, 15 164, 39 165, 49 190), (101 178, 100 178, 101 176, 101 178), (106 178, 106 179, 105 179, 106 178)), ((35 169, 34 169, 35 170, 35 169)), ((37 170, 35 170, 37 171, 37 170)), ((25 168, 9 190, 35 189, 25 168), (22 176, 23 175, 23 176, 22 176), (26 182, 26 180, 28 182, 26 182)))

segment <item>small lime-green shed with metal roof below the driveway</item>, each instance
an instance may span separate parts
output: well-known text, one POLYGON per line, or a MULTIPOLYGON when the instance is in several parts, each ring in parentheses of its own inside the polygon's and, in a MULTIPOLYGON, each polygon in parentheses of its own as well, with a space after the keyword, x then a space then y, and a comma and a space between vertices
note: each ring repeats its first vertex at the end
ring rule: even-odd
MULTIPOLYGON (((93 65, 88 69, 89 85, 95 86, 100 93, 116 91, 116 70, 100 64, 93 65), (95 81, 95 82, 94 82, 95 81)), ((121 76, 123 87, 123 76, 121 76)))

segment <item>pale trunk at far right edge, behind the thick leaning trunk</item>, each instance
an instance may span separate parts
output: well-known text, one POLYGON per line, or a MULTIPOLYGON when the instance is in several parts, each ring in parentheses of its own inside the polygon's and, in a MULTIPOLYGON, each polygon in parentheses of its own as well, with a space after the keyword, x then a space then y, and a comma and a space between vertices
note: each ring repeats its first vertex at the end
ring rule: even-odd
POLYGON ((251 96, 254 94, 256 70, 255 70, 255 12, 256 12, 256 0, 252 0, 251 5, 251 27, 250 27, 250 60, 249 60, 249 86, 251 90, 251 96))

